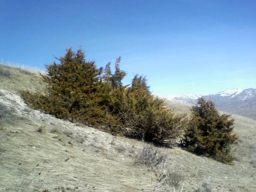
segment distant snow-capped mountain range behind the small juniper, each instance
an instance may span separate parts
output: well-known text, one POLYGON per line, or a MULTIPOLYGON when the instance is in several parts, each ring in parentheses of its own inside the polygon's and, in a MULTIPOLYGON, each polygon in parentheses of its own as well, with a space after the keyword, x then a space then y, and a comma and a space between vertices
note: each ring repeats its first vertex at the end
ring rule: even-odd
POLYGON ((204 97, 215 103, 218 110, 239 114, 256 120, 256 89, 229 89, 215 94, 185 94, 170 97, 169 100, 195 105, 197 99, 204 97))

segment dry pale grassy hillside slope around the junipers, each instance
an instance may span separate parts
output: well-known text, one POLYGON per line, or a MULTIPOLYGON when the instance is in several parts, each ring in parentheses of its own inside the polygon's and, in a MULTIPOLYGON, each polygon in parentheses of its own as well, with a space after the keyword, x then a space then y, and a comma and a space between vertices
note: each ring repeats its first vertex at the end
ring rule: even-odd
MULTIPOLYGON (((0 129, 0 191, 22 191, 24 188, 24 191, 46 188, 60 191, 55 188, 78 186, 77 191, 123 192, 151 189, 156 183, 155 175, 147 167, 132 163, 134 153, 143 146, 141 142, 115 137, 27 108, 15 94, 19 89, 42 89, 41 79, 16 69, 11 69, 11 74, 15 76, 1 78, 0 83, 0 89, 11 91, 1 91, 0 103, 12 110, 0 129), (18 80, 19 87, 11 83, 18 80), (46 127, 38 133, 36 129, 41 125, 46 127), (54 128, 57 131, 51 133, 54 128), (63 133, 68 131, 73 134, 63 133), (65 162, 67 158, 70 159, 65 162), (37 163, 40 165, 35 167, 37 163), (37 176, 39 172, 41 174, 37 176)), ((176 112, 189 113, 188 106, 168 105, 176 112)), ((234 166, 198 157, 178 147, 161 149, 170 155, 170 163, 176 161, 180 167, 178 172, 184 175, 183 189, 196 185, 207 175, 211 176, 213 191, 256 190, 256 168, 250 164, 256 154, 253 148, 256 121, 233 117, 236 119, 235 132, 240 135, 234 146, 237 159, 234 166)))

